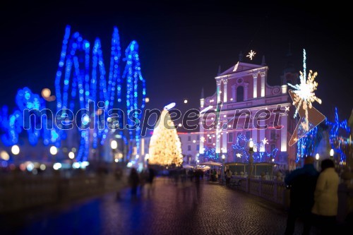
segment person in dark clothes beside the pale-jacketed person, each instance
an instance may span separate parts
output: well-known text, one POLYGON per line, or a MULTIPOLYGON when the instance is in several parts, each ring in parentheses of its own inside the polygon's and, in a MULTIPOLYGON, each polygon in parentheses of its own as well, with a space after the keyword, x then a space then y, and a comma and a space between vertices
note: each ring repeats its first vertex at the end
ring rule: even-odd
POLYGON ((290 188, 290 203, 285 234, 293 234, 297 218, 303 219, 303 234, 309 234, 311 229, 311 208, 313 193, 318 179, 318 171, 313 166, 314 159, 309 156, 304 159, 304 167, 295 169, 285 177, 285 183, 290 188))

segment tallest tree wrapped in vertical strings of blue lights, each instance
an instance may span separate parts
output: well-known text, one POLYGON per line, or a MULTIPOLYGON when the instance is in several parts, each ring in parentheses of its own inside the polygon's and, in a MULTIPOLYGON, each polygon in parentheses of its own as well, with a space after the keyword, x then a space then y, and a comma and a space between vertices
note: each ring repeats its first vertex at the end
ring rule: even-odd
MULTIPOLYGON (((119 66, 121 64, 121 47, 118 29, 114 28, 112 35, 112 51, 107 82, 100 40, 95 40, 93 44, 91 63, 90 43, 83 40, 78 32, 70 35, 70 27, 67 26, 59 68, 56 73, 57 110, 67 108, 68 104, 70 104, 71 111, 90 109, 90 102, 94 102, 100 109, 104 110, 104 114, 108 115, 110 115, 108 112, 110 109, 121 109, 125 112, 140 109, 143 112, 145 107, 145 80, 140 71, 136 41, 128 45, 125 56, 126 106, 123 104, 124 97, 122 97, 123 80, 120 73, 121 66, 119 66), (139 93, 142 93, 142 97, 138 95, 139 93), (76 106, 76 103, 79 103, 79 106, 76 106)), ((140 118, 140 114, 136 114, 136 117, 140 118)), ((88 128, 79 128, 78 160, 87 159, 88 150, 90 150, 90 147, 96 148, 98 142, 101 145, 104 144, 109 128, 118 128, 114 126, 114 123, 109 127, 105 125, 107 117, 100 112, 90 114, 90 119, 95 120, 93 131, 88 128), (104 128, 97 128, 97 126, 104 126, 104 128), (90 143, 91 139, 92 144, 90 143)), ((121 130, 120 132, 123 133, 121 130)), ((134 131, 129 131, 127 136, 130 140, 136 140, 137 148, 139 147, 139 133, 140 129, 136 128, 134 131)))

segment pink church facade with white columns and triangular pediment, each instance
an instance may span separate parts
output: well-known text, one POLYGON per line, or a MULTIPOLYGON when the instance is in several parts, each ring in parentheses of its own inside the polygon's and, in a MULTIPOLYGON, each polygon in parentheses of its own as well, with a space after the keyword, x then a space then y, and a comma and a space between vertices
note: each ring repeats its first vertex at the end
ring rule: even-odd
POLYGON ((296 83, 297 77, 297 73, 287 73, 282 78, 284 85, 270 86, 268 66, 240 61, 218 74, 215 94, 201 97, 201 111, 212 108, 201 112, 203 141, 200 141, 199 153, 203 155, 214 148, 216 155, 225 156, 225 162, 246 163, 252 140, 254 162, 273 162, 282 168, 294 169, 296 147, 288 143, 296 120, 286 84, 296 83), (241 115, 236 116, 236 112, 241 115))

